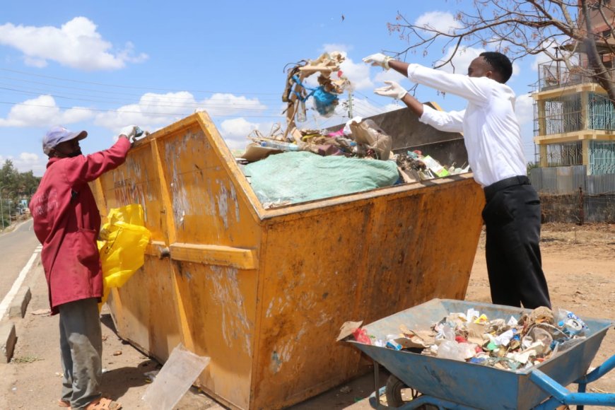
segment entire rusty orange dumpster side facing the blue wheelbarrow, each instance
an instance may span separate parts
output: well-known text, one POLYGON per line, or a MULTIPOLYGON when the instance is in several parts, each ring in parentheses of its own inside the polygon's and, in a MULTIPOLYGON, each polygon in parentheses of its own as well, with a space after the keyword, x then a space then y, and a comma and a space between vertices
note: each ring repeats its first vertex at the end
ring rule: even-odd
POLYGON ((464 298, 481 195, 465 179, 270 221, 253 408, 288 406, 356 375, 358 356, 335 341, 344 322, 464 298))

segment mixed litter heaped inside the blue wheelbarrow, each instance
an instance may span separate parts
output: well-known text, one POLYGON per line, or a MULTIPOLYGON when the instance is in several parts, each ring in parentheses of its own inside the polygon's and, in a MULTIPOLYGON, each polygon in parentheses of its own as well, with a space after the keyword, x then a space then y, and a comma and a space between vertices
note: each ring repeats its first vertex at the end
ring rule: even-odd
POLYGON ((588 327, 568 310, 554 315, 538 307, 519 319, 489 320, 478 310, 450 313, 430 329, 399 327, 399 334, 380 339, 365 328, 353 331, 356 341, 382 348, 488 365, 503 370, 525 370, 585 339, 588 327))

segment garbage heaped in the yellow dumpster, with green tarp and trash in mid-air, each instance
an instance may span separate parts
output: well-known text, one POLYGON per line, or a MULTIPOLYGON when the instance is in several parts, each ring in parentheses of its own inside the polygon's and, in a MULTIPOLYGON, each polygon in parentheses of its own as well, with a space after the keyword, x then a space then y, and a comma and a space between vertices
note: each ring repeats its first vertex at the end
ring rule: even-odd
POLYGON ((251 142, 237 161, 265 208, 362 192, 397 183, 430 180, 469 170, 455 168, 455 164, 450 167, 440 165, 437 160, 428 155, 423 156, 420 151, 399 155, 392 153, 392 137, 372 119, 354 117, 337 131, 298 129, 296 124, 305 121, 305 102, 308 99, 312 100, 314 110, 327 117, 333 114, 339 95, 351 87, 350 81, 340 69, 343 61, 344 55, 341 52, 331 52, 315 60, 303 60, 291 67, 282 95, 283 102, 287 103, 286 127, 274 124, 267 135, 254 130, 247 136, 251 142), (314 74, 318 74, 319 86, 310 88, 306 79, 314 74), (326 159, 294 155, 296 151, 316 154, 315 157, 326 159), (269 158, 286 153, 294 154, 275 160, 269 158), (334 157, 360 160, 348 162, 345 158, 334 157), (301 160, 303 163, 289 164, 290 160, 301 160), (362 160, 377 160, 378 164, 366 164, 362 160), (262 161, 269 163, 254 165, 262 161), (301 172, 295 175, 293 170, 298 168, 301 168, 301 172), (339 168, 343 173, 334 174, 334 168, 339 168), (327 178, 322 177, 322 170, 328 170, 327 178), (382 175, 370 175, 373 170, 382 175), (276 180, 279 172, 283 173, 283 177, 276 180), (335 189, 331 189, 332 186, 335 189))

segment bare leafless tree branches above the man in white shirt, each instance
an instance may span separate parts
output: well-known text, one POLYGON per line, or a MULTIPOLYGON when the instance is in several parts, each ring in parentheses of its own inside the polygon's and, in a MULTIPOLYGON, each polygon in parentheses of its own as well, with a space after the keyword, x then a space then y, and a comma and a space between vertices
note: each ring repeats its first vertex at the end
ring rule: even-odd
POLYGON ((513 61, 545 54, 569 71, 593 78, 615 102, 615 79, 611 75, 615 1, 474 0, 471 9, 472 12, 458 11, 456 27, 446 31, 430 24, 417 25, 398 13, 397 20, 389 23, 389 31, 399 34, 409 45, 397 54, 428 54, 428 49, 440 45, 440 40, 444 40, 443 52, 452 48, 452 54, 436 60, 435 67, 452 64, 452 58, 464 47, 491 45, 513 61))

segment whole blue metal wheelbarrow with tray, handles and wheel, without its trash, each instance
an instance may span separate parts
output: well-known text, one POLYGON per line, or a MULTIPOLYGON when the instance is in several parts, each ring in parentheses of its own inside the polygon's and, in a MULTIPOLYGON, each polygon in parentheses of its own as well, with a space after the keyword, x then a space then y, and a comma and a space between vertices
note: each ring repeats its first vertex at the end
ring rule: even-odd
MULTIPOLYGON (((368 334, 385 339, 387 334, 398 334, 399 325, 409 329, 428 329, 453 312, 479 310, 490 320, 517 319, 529 313, 520 307, 491 305, 462 300, 433 299, 411 307, 364 327, 368 334)), ((589 330, 586 339, 532 368, 517 371, 503 370, 486 365, 425 356, 411 351, 361 344, 350 341, 374 361, 375 392, 370 403, 375 409, 555 409, 562 404, 615 406, 615 394, 587 393, 587 383, 597 380, 615 367, 611 356, 587 374, 602 339, 612 326, 610 320, 583 318, 589 330), (391 377, 387 386, 379 389, 379 364, 391 377), (578 392, 566 387, 578 384, 578 392), (409 387, 412 399, 402 402, 400 389, 409 387), (380 404, 380 395, 387 389, 387 405, 380 404)))

